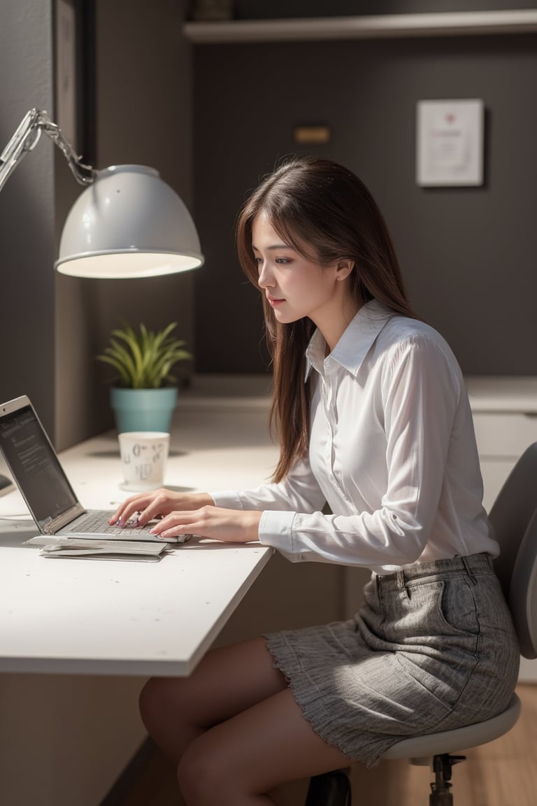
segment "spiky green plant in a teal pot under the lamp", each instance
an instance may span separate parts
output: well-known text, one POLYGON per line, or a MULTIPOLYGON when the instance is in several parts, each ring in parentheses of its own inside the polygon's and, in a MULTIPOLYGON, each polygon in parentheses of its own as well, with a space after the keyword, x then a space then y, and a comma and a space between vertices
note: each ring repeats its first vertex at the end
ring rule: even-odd
POLYGON ((183 340, 172 335, 177 322, 156 332, 143 324, 138 330, 126 322, 122 325, 112 330, 109 346, 97 355, 118 373, 117 384, 110 389, 118 432, 169 431, 177 403, 171 370, 192 359, 192 354, 184 349, 183 340))

